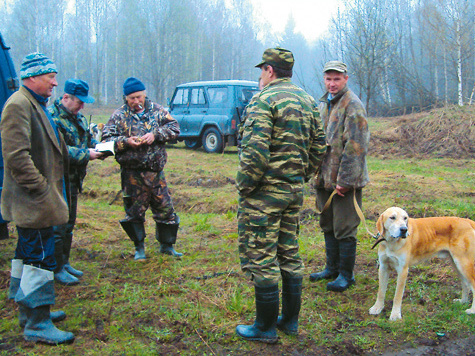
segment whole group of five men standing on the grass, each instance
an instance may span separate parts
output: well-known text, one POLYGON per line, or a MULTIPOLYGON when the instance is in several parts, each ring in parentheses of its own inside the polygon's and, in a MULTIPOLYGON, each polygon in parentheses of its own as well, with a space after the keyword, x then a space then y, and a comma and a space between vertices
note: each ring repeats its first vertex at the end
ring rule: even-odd
MULTIPOLYGON (((325 236, 326 267, 311 281, 334 279, 327 289, 341 292, 355 283, 356 231, 368 183, 369 141, 365 110, 347 87, 346 65, 324 67, 327 93, 315 100, 291 82, 294 57, 282 48, 267 49, 256 94, 240 127, 238 234, 242 270, 255 287, 256 318, 236 332, 247 340, 277 341, 276 329, 298 333, 304 265, 299 255, 299 211, 304 184, 315 177, 320 226, 325 236), (323 207, 325 206, 325 209, 323 207), (279 316, 279 279, 282 310, 279 316)), ((53 61, 41 53, 23 60, 22 87, 7 101, 0 123, 5 162, 1 209, 18 231, 12 260, 9 298, 19 305, 24 338, 49 344, 69 343, 74 335, 56 328, 62 311, 51 311, 53 281, 79 283, 83 273, 69 263, 78 194, 90 160, 104 159, 96 150, 80 113, 92 103, 89 87, 79 79, 65 83, 64 95, 47 108, 58 85, 53 61)), ((175 140, 179 126, 162 106, 146 96, 145 85, 130 77, 123 84, 124 104, 104 126, 103 142, 113 141, 121 166, 126 213, 120 221, 145 256, 145 212, 156 222, 160 252, 175 251, 180 219, 163 173, 164 144, 175 140)))

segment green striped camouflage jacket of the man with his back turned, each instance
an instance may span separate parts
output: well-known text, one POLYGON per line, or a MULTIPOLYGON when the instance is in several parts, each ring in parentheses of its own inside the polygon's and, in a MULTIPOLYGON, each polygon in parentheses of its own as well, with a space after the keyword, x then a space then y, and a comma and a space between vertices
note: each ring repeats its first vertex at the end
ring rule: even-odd
POLYGON ((303 190, 326 149, 315 100, 290 78, 276 79, 254 95, 240 136, 236 184, 242 196, 256 189, 303 190))

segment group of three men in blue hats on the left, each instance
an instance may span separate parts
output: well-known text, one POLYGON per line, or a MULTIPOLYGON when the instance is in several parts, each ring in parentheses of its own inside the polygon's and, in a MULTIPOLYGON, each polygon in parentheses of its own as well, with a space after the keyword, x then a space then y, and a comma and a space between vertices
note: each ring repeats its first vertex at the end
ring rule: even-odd
MULTIPOLYGON (((80 113, 93 103, 88 84, 69 79, 64 94, 47 107, 58 85, 54 62, 42 53, 27 55, 21 65, 22 86, 6 102, 0 122, 4 184, 2 214, 16 224, 18 241, 12 260, 9 298, 19 306, 19 322, 27 341, 62 344, 71 332, 53 322, 66 318, 51 311, 54 283, 75 285, 83 272, 69 263, 78 194, 89 161, 104 159, 80 113)), ((104 127, 121 166, 126 217, 120 223, 135 244, 135 259, 145 259, 145 212, 151 207, 160 252, 175 251, 179 218, 173 209, 163 168, 165 142, 180 133, 178 123, 146 97, 144 84, 128 78, 124 105, 104 127)))

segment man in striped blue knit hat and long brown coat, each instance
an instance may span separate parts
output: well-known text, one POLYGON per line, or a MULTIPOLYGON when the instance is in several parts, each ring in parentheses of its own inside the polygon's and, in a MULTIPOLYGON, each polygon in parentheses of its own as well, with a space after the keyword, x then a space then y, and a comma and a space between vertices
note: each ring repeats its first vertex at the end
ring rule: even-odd
POLYGON ((48 344, 74 340, 72 333, 53 325, 66 317, 64 312, 50 312, 55 301, 53 226, 68 221, 68 151, 46 110, 58 85, 56 73, 44 54, 27 55, 20 69, 23 85, 6 102, 0 122, 1 209, 18 231, 9 298, 19 305, 25 340, 48 344))

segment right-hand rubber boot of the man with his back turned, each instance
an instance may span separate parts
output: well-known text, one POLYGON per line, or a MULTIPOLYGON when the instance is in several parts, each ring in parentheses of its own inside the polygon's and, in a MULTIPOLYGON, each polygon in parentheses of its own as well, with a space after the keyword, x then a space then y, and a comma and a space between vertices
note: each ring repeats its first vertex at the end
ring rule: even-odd
POLYGON ((277 328, 287 335, 297 335, 302 302, 302 277, 282 277, 282 315, 277 328))

